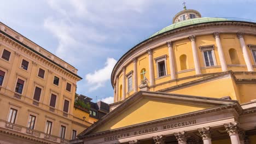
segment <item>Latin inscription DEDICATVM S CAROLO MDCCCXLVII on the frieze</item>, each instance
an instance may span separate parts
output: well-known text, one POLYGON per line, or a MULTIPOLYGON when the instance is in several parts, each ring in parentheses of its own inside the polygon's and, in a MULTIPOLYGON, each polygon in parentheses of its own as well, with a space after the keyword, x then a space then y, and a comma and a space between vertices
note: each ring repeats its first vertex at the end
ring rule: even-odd
POLYGON ((174 129, 174 128, 178 128, 178 127, 185 127, 185 126, 191 125, 191 124, 196 124, 196 120, 194 119, 191 121, 167 123, 167 124, 163 124, 158 127, 152 127, 152 128, 142 129, 142 130, 131 131, 129 133, 123 133, 123 134, 119 134, 119 135, 112 135, 112 136, 104 137, 104 141, 113 141, 113 140, 118 140, 118 139, 122 139, 124 137, 129 137, 129 136, 154 133, 155 131, 174 129))

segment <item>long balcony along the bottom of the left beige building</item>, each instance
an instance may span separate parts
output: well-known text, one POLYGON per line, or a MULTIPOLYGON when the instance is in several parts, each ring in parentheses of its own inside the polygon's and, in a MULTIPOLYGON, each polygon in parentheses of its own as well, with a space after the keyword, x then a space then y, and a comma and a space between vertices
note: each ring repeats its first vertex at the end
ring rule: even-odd
POLYGON ((0 119, 0 129, 7 129, 13 132, 27 134, 28 135, 27 137, 30 137, 30 139, 32 137, 32 139, 43 139, 43 140, 53 141, 56 143, 64 143, 64 144, 69 143, 68 140, 62 139, 61 137, 49 135, 41 131, 29 129, 18 124, 9 123, 7 121, 3 121, 2 119, 0 119))

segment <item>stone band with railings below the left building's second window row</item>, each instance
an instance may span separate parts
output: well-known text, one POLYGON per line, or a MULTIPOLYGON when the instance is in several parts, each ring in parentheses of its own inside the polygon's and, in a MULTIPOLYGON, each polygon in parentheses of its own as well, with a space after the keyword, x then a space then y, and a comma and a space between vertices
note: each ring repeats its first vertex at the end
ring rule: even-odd
POLYGON ((54 107, 51 107, 49 105, 45 105, 43 103, 40 103, 37 100, 31 99, 26 97, 25 95, 21 95, 20 93, 16 93, 14 91, 10 91, 7 88, 0 86, 0 93, 3 93, 4 95, 7 95, 8 97, 15 98, 17 100, 23 101, 24 103, 39 107, 40 109, 44 109, 50 112, 54 112, 56 115, 62 116, 62 117, 69 117, 69 113, 63 112, 61 110, 55 109, 54 107))

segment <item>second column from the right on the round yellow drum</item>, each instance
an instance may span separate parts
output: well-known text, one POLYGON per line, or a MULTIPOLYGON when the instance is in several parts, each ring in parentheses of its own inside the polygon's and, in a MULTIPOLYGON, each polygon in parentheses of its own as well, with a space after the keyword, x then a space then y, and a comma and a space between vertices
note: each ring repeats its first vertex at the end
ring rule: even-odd
POLYGON ((228 67, 226 66, 226 60, 224 57, 224 52, 222 49, 222 43, 220 43, 219 32, 214 32, 213 35, 216 40, 216 45, 217 45, 218 54, 219 54, 219 61, 220 61, 220 65, 222 66, 222 71, 228 71, 228 67))

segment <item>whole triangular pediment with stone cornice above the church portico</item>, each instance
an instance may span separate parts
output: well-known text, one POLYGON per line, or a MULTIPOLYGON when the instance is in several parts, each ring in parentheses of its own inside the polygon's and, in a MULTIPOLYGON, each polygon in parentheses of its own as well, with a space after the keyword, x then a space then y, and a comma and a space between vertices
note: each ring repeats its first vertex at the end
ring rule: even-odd
POLYGON ((120 129, 234 103, 233 100, 225 99, 138 92, 80 135, 120 129))

